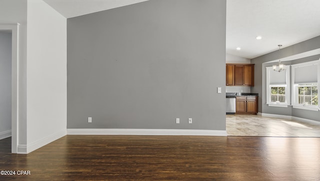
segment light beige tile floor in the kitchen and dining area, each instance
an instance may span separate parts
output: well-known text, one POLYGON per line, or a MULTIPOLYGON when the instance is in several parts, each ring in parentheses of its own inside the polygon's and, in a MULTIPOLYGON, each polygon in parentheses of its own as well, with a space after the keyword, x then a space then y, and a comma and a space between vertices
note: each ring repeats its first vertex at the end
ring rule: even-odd
POLYGON ((226 115, 228 136, 320 137, 320 125, 258 115, 226 115))

